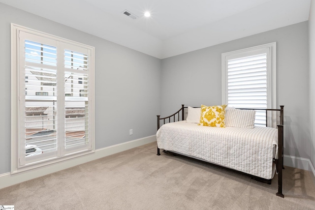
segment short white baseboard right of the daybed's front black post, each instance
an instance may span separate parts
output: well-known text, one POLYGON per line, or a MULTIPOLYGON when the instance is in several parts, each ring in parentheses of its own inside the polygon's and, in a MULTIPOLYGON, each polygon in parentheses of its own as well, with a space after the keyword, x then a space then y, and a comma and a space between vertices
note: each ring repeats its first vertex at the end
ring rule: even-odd
POLYGON ((299 168, 306 171, 313 172, 315 176, 315 169, 312 165, 310 159, 302 158, 302 157, 294 157, 290 155, 284 155, 284 166, 289 166, 293 168, 299 168))

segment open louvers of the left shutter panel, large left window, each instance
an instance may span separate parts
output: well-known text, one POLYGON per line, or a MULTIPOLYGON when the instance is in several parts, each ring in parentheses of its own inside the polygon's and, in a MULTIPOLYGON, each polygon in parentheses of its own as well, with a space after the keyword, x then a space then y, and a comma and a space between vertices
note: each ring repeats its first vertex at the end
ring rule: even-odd
MULTIPOLYGON (((57 49, 25 40, 25 144, 57 150, 57 49)), ((40 152, 26 153, 26 156, 40 152)))

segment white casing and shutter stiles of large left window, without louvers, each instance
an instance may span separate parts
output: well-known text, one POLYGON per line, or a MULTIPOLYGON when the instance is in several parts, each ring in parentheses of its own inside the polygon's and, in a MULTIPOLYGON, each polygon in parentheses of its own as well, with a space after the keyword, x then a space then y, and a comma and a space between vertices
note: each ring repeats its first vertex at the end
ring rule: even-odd
MULTIPOLYGON (((11 23, 11 174, 20 173, 26 170, 31 170, 35 167, 42 167, 43 165, 55 164, 58 161, 65 161, 69 158, 75 158, 80 155, 87 155, 89 153, 93 153, 95 150, 95 47, 89 46, 86 44, 82 44, 79 42, 71 41, 68 39, 64 39, 62 37, 58 37, 52 34, 40 32, 38 30, 29 29, 23 26, 19 26, 11 23), (30 38, 30 39, 29 39, 30 38), (24 113, 25 113, 25 84, 21 83, 25 81, 25 75, 22 72, 22 69, 25 69, 25 65, 21 64, 25 62, 24 57, 24 41, 23 40, 33 40, 40 41, 41 43, 49 44, 55 46, 56 49, 60 49, 62 51, 57 51, 57 59, 58 63, 64 63, 64 49, 74 50, 76 52, 81 52, 84 55, 87 55, 89 58, 89 71, 84 72, 88 75, 89 83, 87 84, 89 90, 89 141, 88 144, 83 146, 72 147, 71 149, 65 150, 62 146, 63 141, 57 141, 59 148, 56 152, 47 152, 46 154, 37 155, 38 157, 25 157, 25 141, 24 138, 20 138, 25 136, 25 130, 20 129, 21 127, 25 127, 24 113), (23 46, 22 46, 23 43, 23 46), (21 57, 20 57, 21 55, 21 57), (20 66, 22 65, 22 66, 20 66), (22 120, 21 120, 22 119, 22 120), (70 156, 71 154, 71 156, 70 156), (72 155, 73 154, 73 155, 72 155), (35 160, 36 159, 36 160, 35 160)), ((38 65, 39 66, 39 65, 38 65)), ((58 75, 57 80, 62 81, 58 86, 58 106, 64 107, 64 69, 61 66, 58 68, 57 65, 56 70, 61 70, 58 75), (63 73, 62 73, 63 72, 63 73)), ((23 70, 24 71, 24 70, 23 70)), ((78 72, 77 70, 71 70, 71 72, 78 72)), ((32 96, 27 96, 29 99, 32 99, 32 96), (31 97, 31 98, 30 98, 31 97)), ((54 99, 55 97, 49 97, 48 99, 54 99)), ((46 98, 47 99, 47 98, 46 98)), ((84 97, 80 97, 79 99, 84 99, 84 97)), ((63 112, 57 113, 58 119, 64 119, 63 112)), ((58 120, 59 121, 59 120, 58 120)), ((55 124, 55 123, 54 123, 55 124)), ((65 139, 64 137, 64 126, 62 123, 57 123, 59 135, 57 139, 65 139)))

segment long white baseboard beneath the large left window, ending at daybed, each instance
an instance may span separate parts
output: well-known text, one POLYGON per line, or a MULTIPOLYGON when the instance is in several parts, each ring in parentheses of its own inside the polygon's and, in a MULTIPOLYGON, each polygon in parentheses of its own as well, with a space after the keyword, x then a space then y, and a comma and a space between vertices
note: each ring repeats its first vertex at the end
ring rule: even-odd
POLYGON ((59 163, 51 164, 48 166, 43 166, 40 168, 32 169, 29 171, 21 172, 18 174, 11 175, 10 173, 5 173, 0 175, 0 189, 8 187, 23 181, 32 180, 38 177, 42 177, 63 169, 71 168, 76 165, 80 165, 86 162, 90 162, 111 154, 115 154, 121 151, 129 150, 141 145, 149 144, 151 142, 157 141, 156 135, 148 136, 141 139, 132 140, 122 144, 113 145, 110 147, 95 150, 94 153, 84 155, 81 157, 65 160, 59 163))

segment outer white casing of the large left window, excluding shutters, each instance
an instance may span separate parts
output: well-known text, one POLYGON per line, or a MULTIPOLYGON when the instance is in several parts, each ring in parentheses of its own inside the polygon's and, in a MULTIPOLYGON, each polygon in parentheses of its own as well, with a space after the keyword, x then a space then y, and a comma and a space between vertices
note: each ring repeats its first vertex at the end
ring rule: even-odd
MULTIPOLYGON (((11 174, 31 170, 34 168, 46 166, 49 164, 57 163, 60 161, 72 159, 75 157, 79 157, 85 154, 95 152, 95 97, 94 97, 95 82, 94 81, 95 81, 95 47, 11 23, 11 174), (21 161, 21 159, 19 159, 19 151, 25 150, 21 148, 22 143, 18 139, 21 135, 25 135, 25 130, 23 131, 23 129, 19 128, 20 126, 19 123, 21 121, 20 115, 22 112, 21 109, 19 108, 20 107, 20 102, 19 102, 20 90, 19 89, 21 87, 19 84, 20 84, 20 81, 22 80, 22 77, 21 77, 22 74, 18 73, 19 68, 20 68, 19 54, 21 53, 19 50, 20 48, 19 31, 32 33, 37 36, 46 37, 46 38, 53 39, 59 42, 64 42, 64 43, 71 44, 73 46, 79 46, 79 47, 91 50, 91 59, 89 60, 91 62, 89 64, 90 66, 89 82, 91 83, 90 89, 89 89, 89 97, 91 97, 91 99, 89 99, 89 113, 91 112, 91 115, 90 115, 91 119, 89 119, 89 123, 90 123, 89 141, 91 141, 91 150, 73 152, 72 154, 67 154, 64 156, 58 156, 58 157, 47 159, 44 161, 33 162, 32 164, 25 165, 23 167, 19 166, 19 161, 21 161)), ((21 82, 25 82, 25 77, 23 77, 23 81, 21 82)), ((34 159, 36 159, 35 156, 34 156, 34 159)))

